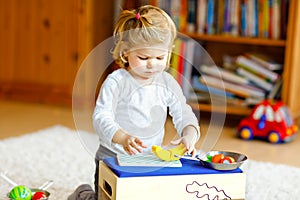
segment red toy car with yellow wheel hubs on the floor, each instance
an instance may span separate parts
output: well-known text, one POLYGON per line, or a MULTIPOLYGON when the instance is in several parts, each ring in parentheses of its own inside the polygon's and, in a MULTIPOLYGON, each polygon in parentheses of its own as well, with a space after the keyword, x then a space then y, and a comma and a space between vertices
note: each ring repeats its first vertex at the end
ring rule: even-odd
POLYGON ((240 138, 262 138, 271 143, 291 141, 297 131, 289 109, 282 102, 274 100, 257 104, 250 116, 242 119, 238 126, 240 138))

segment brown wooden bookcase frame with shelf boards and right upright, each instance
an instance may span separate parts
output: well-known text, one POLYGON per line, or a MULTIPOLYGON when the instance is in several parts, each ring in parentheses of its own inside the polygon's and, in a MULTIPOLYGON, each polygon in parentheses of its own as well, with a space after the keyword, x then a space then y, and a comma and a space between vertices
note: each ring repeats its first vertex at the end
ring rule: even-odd
MULTIPOLYGON (((268 1, 268 0, 266 0, 268 1)), ((147 1, 142 1, 146 4, 147 1)), ((149 1, 148 4, 159 6, 163 0, 149 1)), ((198 1, 199 2, 199 1, 198 1)), ((290 0, 287 8, 288 21, 286 34, 277 39, 261 37, 230 36, 228 34, 199 34, 196 31, 181 31, 185 35, 197 40, 209 53, 216 65, 222 64, 224 54, 237 56, 244 52, 263 52, 271 55, 275 61, 284 64, 282 70, 281 100, 290 108, 292 115, 300 117, 300 93, 298 77, 300 74, 300 2, 290 0)), ((193 109, 211 112, 209 104, 191 102, 193 109)), ((227 106, 225 112, 233 115, 247 115, 251 108, 244 106, 227 106)), ((216 107, 214 112, 224 112, 224 108, 216 107)))

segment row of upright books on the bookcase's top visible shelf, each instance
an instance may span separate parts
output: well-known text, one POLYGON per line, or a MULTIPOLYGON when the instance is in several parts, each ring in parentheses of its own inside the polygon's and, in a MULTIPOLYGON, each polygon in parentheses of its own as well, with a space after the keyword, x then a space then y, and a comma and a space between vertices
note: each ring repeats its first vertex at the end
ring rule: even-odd
MULTIPOLYGON (((146 1, 143 1, 146 4, 146 1)), ((156 0, 179 31, 284 39, 288 0, 156 0)))

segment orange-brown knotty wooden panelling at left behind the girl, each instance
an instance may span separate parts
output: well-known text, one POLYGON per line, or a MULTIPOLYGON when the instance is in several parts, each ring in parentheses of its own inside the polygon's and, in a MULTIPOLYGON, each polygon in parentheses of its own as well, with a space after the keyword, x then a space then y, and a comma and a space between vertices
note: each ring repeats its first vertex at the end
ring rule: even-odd
POLYGON ((112 15, 110 1, 0 0, 0 97, 71 105, 78 67, 111 35, 112 15))

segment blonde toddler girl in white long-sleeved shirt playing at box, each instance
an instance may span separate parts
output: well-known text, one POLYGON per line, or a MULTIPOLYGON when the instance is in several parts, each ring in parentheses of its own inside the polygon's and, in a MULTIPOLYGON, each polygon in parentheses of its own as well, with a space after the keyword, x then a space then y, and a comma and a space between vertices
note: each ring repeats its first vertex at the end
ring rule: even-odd
POLYGON ((165 70, 170 63, 176 27, 160 8, 125 10, 118 18, 112 55, 121 67, 103 82, 93 114, 100 138, 96 153, 95 190, 99 161, 117 154, 151 153, 161 145, 167 113, 172 117, 187 153, 196 153, 199 123, 176 80, 165 70))

